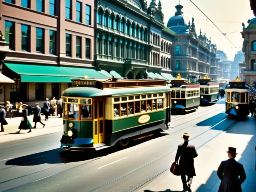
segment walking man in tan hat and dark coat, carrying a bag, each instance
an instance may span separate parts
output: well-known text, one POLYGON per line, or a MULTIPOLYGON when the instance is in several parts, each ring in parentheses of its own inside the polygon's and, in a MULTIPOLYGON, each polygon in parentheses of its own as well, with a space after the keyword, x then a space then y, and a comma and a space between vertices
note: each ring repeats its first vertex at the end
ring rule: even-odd
POLYGON ((183 191, 191 191, 190 186, 192 184, 192 179, 196 176, 194 158, 197 157, 198 154, 195 146, 188 144, 188 133, 184 133, 182 139, 184 140, 184 143, 178 145, 175 162, 178 163, 179 160, 183 191), (187 179, 186 176, 188 177, 187 179))

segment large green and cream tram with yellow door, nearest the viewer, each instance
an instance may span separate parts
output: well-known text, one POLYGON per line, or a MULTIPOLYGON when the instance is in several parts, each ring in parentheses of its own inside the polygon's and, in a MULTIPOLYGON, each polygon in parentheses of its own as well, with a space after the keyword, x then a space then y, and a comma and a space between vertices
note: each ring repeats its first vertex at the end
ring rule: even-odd
POLYGON ((62 94, 61 149, 126 146, 168 129, 170 92, 160 79, 72 79, 62 94))

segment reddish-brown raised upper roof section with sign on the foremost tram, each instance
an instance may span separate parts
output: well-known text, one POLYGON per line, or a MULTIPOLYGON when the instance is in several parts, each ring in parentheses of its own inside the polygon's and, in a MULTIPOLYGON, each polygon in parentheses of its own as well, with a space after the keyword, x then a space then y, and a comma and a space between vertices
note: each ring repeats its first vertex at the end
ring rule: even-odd
POLYGON ((165 86, 166 81, 162 79, 124 79, 124 78, 88 78, 71 79, 72 87, 94 87, 97 89, 120 89, 131 87, 156 87, 165 86))

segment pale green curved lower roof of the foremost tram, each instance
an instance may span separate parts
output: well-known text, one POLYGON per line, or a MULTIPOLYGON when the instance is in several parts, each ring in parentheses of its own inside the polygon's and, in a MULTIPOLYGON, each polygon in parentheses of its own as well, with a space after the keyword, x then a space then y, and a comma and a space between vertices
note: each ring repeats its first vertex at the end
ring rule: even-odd
POLYGON ((114 97, 122 95, 170 92, 169 86, 133 87, 120 89, 98 89, 95 87, 70 87, 63 91, 63 97, 114 97))

